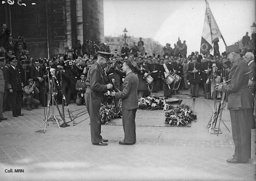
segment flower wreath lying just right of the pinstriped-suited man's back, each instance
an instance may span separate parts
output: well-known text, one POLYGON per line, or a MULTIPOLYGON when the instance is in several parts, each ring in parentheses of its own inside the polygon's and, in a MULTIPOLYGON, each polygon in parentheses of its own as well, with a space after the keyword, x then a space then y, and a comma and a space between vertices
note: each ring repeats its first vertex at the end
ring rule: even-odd
POLYGON ((165 102, 164 98, 159 97, 142 97, 139 100, 138 109, 142 110, 169 110, 173 109, 174 106, 171 106, 168 102, 165 102))

